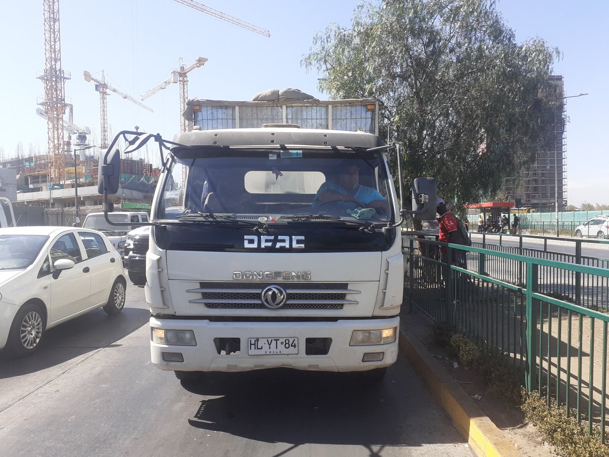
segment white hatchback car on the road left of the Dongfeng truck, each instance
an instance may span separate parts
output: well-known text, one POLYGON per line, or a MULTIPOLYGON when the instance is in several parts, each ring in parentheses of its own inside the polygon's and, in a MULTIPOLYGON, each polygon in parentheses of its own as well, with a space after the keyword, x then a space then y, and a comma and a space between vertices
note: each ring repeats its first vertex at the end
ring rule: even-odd
POLYGON ((0 228, 0 349, 27 355, 44 332, 104 306, 125 305, 121 256, 87 228, 0 228))

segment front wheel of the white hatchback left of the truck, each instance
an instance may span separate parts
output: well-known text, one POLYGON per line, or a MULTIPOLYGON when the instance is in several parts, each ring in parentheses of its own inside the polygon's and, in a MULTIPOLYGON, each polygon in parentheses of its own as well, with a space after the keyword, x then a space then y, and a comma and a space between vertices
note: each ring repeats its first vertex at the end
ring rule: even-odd
POLYGON ((10 355, 23 357, 33 354, 40 346, 46 322, 40 306, 21 306, 10 326, 6 348, 10 355))

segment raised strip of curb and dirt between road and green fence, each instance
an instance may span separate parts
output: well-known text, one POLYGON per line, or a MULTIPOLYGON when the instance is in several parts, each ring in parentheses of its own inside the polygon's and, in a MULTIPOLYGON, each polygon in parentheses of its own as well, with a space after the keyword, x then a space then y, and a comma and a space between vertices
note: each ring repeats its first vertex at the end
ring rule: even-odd
POLYGON ((479 456, 552 455, 524 414, 472 370, 459 366, 434 340, 434 322, 413 306, 400 315, 400 349, 432 395, 451 416, 457 430, 479 456))

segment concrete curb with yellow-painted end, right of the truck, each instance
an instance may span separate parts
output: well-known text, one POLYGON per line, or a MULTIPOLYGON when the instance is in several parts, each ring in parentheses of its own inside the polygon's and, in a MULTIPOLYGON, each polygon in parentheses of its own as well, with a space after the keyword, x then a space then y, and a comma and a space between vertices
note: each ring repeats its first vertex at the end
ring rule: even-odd
POLYGON ((478 408, 446 370, 418 339, 408 331, 400 331, 400 349, 442 408, 451 417, 459 433, 478 456, 518 456, 515 445, 478 408))

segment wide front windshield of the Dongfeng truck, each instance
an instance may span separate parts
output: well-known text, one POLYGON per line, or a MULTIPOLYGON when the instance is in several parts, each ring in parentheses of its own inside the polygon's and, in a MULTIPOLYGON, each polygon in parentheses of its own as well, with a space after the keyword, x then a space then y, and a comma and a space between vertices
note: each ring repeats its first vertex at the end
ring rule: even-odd
POLYGON ((202 148, 174 156, 156 216, 193 221, 182 216, 201 213, 211 223, 228 218, 210 215, 263 222, 383 222, 392 219, 391 202, 385 161, 378 153, 202 148))

